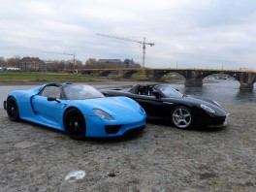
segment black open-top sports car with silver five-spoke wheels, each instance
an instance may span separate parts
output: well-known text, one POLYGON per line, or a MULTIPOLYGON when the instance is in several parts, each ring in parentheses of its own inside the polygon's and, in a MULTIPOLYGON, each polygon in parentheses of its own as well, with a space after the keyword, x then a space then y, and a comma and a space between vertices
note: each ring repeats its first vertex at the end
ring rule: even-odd
POLYGON ((101 92, 106 96, 132 98, 144 108, 147 118, 163 119, 180 129, 223 127, 227 124, 229 113, 217 102, 185 96, 170 84, 136 84, 124 89, 102 89, 101 92))

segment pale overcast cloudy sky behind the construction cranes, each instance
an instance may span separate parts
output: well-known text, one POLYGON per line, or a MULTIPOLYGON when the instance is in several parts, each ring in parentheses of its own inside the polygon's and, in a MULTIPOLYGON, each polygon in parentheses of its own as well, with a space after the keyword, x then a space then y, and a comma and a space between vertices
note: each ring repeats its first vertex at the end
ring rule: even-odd
POLYGON ((255 0, 0 0, 0 57, 256 70, 255 0), (63 53, 66 54, 63 54, 63 53))

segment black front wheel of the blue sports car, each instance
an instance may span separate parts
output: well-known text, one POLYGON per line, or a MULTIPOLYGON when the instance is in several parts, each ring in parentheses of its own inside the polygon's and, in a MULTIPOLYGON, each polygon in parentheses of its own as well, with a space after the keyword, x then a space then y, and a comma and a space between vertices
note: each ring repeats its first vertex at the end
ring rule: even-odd
POLYGON ((74 140, 84 140, 86 132, 85 119, 77 109, 71 109, 64 115, 64 128, 74 140))

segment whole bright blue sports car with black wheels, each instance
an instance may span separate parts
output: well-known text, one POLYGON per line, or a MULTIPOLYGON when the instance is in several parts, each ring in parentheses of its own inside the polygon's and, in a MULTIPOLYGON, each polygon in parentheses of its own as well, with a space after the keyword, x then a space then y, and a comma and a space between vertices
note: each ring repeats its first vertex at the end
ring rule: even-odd
POLYGON ((71 138, 118 137, 145 127, 144 109, 127 97, 105 97, 90 85, 48 83, 15 90, 4 101, 13 121, 19 119, 65 131, 71 138))

